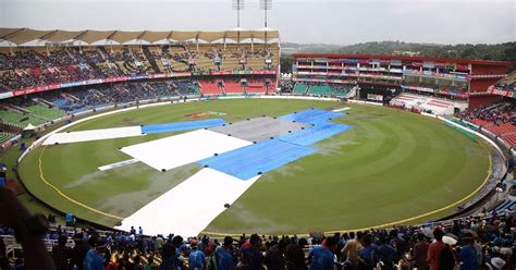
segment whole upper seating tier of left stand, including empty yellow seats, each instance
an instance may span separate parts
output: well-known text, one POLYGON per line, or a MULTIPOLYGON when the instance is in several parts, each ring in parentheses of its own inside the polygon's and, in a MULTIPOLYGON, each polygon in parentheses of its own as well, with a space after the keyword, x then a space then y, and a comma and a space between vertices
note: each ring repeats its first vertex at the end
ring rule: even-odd
POLYGON ((119 45, 85 48, 0 48, 0 93, 52 84, 126 75, 192 71, 275 70, 278 45, 250 46, 201 44, 195 46, 119 45), (219 57, 221 65, 213 59, 219 57), (245 59, 246 63, 241 63, 245 59), (266 64, 266 59, 271 60, 266 64), (194 60, 195 64, 189 60, 194 60))

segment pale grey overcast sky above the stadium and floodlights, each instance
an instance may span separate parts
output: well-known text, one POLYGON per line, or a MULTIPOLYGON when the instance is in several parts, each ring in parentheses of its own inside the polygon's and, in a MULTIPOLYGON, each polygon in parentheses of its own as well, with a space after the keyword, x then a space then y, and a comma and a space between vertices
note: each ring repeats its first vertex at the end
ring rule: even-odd
MULTIPOLYGON (((272 0, 282 41, 349 45, 516 40, 516 0, 272 0)), ((0 27, 221 30, 236 27, 232 0, 0 0, 0 27)), ((245 0, 242 27, 263 27, 245 0)))

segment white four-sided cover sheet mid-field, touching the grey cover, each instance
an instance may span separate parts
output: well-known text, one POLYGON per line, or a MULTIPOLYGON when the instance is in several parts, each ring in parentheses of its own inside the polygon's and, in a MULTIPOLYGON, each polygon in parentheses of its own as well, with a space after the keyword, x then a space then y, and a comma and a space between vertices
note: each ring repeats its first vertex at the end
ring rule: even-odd
POLYGON ((221 133, 198 130, 167 138, 124 147, 121 151, 156 170, 171 170, 214 154, 231 151, 253 143, 221 133))

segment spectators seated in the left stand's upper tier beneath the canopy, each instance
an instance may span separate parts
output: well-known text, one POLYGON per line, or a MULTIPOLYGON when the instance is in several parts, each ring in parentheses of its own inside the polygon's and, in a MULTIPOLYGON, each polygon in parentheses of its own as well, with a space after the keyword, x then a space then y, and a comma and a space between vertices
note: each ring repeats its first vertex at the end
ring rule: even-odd
MULTIPOLYGON (((216 54, 225 58, 236 53, 246 58, 271 57, 266 50, 238 49, 205 53, 191 52, 185 46, 50 48, 47 51, 23 50, 0 53, 0 93, 28 87, 79 82, 126 75, 146 75, 175 71, 170 61, 185 64, 179 71, 197 71, 196 58, 212 60, 216 54), (164 61, 163 61, 164 60, 164 61), (164 63, 160 68, 157 62, 164 63), (189 68, 188 68, 189 66, 189 68)), ((220 68, 220 66, 219 66, 220 68)), ((213 65, 213 69, 216 66, 213 65)))

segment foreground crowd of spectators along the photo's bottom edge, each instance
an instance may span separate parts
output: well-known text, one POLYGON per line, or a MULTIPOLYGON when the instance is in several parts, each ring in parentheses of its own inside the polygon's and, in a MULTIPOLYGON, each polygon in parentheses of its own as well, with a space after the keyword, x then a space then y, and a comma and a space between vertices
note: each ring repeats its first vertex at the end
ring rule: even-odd
MULTIPOLYGON (((133 228, 128 233, 99 234, 61 226, 45 238, 56 241, 51 258, 59 270, 505 270, 516 268, 514 218, 512 212, 484 219, 465 218, 447 229, 397 226, 329 236, 312 234, 306 238, 243 234, 237 238, 185 240, 173 234, 146 236, 142 228, 133 228)), ((0 228, 0 234, 13 235, 14 231, 0 228)), ((3 242, 0 251, 3 257, 3 242)), ((16 269, 10 265, 23 261, 0 259, 0 269, 16 269)))

